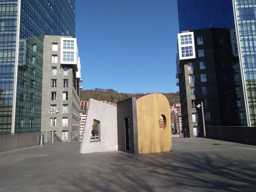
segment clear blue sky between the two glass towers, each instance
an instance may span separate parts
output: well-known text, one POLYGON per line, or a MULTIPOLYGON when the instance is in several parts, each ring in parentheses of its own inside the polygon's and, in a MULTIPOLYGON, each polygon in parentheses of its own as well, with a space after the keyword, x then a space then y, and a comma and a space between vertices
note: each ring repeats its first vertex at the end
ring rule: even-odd
POLYGON ((83 89, 177 92, 176 0, 76 0, 83 89))

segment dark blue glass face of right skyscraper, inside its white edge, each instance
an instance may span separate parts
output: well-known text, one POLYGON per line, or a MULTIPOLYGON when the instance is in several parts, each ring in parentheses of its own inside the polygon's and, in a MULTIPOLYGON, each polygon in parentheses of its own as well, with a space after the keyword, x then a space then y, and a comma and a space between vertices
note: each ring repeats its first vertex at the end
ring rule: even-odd
POLYGON ((211 28, 221 125, 248 126, 232 0, 178 0, 178 16, 180 32, 211 28))

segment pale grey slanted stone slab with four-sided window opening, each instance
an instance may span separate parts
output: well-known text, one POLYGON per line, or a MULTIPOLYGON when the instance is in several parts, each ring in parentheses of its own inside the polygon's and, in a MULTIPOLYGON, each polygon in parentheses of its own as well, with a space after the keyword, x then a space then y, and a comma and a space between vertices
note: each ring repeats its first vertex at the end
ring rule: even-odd
MULTIPOLYGON (((79 153, 115 151, 117 149, 117 107, 90 99, 79 153), (99 123, 98 141, 90 140, 93 121, 99 123)), ((96 157, 91 160, 95 159, 96 157)))

